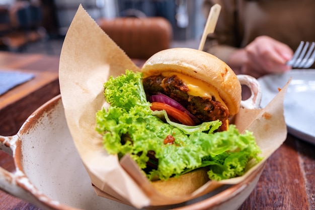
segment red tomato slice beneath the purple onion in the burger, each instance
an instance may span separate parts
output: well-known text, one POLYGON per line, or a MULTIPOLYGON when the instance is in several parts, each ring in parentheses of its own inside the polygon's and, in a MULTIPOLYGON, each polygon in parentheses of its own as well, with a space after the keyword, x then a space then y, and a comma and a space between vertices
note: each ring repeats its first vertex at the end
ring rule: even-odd
POLYGON ((191 117, 168 104, 162 102, 152 102, 151 103, 151 110, 153 111, 161 111, 165 110, 169 116, 172 116, 174 119, 178 120, 179 122, 183 123, 184 125, 195 125, 195 122, 191 119, 191 117))

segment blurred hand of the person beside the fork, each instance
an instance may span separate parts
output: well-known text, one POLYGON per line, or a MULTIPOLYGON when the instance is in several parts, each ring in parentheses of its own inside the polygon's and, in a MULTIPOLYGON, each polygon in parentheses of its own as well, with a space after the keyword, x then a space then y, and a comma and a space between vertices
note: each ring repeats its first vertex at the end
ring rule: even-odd
POLYGON ((293 56, 292 49, 268 36, 259 36, 243 49, 235 50, 228 61, 238 73, 260 77, 283 73, 291 69, 286 62, 293 56))

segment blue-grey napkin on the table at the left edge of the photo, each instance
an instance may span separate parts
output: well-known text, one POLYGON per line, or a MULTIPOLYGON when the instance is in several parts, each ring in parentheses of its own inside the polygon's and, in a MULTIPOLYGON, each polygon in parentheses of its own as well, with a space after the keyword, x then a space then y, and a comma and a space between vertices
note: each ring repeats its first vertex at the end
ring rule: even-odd
POLYGON ((33 74, 0 70, 0 95, 34 78, 33 74))

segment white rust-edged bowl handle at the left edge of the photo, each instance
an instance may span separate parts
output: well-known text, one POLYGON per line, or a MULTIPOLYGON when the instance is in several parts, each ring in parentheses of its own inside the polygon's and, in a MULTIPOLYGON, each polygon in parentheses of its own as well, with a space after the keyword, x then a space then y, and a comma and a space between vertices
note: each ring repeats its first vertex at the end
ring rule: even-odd
MULTIPOLYGON (((2 136, 0 135, 0 150, 14 156, 16 142, 19 141, 18 135, 2 136)), ((32 201, 32 195, 27 192, 20 184, 21 179, 25 181, 25 174, 15 166, 15 172, 9 172, 0 167, 0 189, 24 200, 32 201)))

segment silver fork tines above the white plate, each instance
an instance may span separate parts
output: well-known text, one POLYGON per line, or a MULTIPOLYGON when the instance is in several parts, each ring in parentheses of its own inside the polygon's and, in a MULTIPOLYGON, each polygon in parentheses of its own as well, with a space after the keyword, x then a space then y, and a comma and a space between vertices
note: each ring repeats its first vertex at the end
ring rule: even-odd
POLYGON ((315 50, 313 51, 315 42, 312 42, 309 48, 308 46, 309 42, 305 42, 304 45, 304 41, 301 41, 293 57, 286 64, 297 68, 309 68, 315 61, 315 50))

